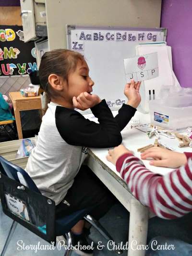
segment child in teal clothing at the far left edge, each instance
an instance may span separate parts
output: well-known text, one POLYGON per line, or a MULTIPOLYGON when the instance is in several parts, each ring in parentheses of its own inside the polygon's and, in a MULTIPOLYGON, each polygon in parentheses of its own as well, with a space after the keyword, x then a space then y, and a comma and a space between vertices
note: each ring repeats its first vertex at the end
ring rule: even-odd
POLYGON ((0 92, 0 121, 15 120, 6 99, 7 97, 0 92))

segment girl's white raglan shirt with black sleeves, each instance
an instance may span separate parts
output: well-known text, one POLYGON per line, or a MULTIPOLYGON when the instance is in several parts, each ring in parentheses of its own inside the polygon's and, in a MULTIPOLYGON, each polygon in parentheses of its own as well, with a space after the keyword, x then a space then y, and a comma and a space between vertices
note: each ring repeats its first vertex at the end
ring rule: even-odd
MULTIPOLYGON (((98 122, 53 102, 42 118, 36 147, 26 171, 42 195, 58 205, 72 186, 84 158, 83 147, 114 147, 122 142, 120 131, 136 109, 123 104, 114 118, 105 100, 91 108, 98 122)), ((82 184, 83 185, 83 184, 82 184)))

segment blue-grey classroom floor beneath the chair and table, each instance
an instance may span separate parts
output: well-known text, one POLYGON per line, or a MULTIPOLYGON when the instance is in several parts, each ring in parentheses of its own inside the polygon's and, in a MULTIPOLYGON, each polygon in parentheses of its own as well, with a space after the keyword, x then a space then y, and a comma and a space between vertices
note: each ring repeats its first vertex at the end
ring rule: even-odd
MULTIPOLYGON (((116 243, 123 244, 128 241, 128 212, 126 209, 120 205, 114 205, 110 211, 100 219, 101 224, 107 229, 107 231, 112 235, 115 239, 116 243)), ((10 230, 12 224, 12 219, 7 217, 3 212, 0 204, 0 252, 2 251, 3 245, 5 243, 6 237, 10 230)), ((94 241, 94 246, 96 248, 98 241, 102 241, 102 244, 105 247, 102 250, 94 249, 94 256, 117 256, 114 251, 110 251, 107 249, 107 242, 93 227, 91 228, 91 233, 89 238, 94 241)), ((64 249, 58 250, 57 245, 54 250, 38 250, 35 253, 34 250, 18 250, 21 249, 21 246, 17 244, 17 241, 22 240, 25 245, 37 245, 38 242, 40 245, 48 244, 43 239, 36 236, 36 234, 28 231, 20 224, 17 224, 15 231, 12 233, 12 237, 10 239, 10 243, 5 252, 5 256, 63 256, 64 249)), ((19 242, 22 243, 22 242, 19 242)), ((72 256, 77 256, 74 252, 72 252, 72 256)), ((127 256, 127 251, 123 251, 121 256, 127 256)))

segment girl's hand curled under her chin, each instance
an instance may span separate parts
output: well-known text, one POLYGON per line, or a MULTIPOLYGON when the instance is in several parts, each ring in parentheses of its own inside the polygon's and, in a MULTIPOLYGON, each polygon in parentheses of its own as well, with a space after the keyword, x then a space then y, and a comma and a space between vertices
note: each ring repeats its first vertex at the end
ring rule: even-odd
POLYGON ((77 98, 72 98, 73 106, 79 110, 93 108, 100 102, 101 99, 96 94, 91 95, 87 92, 82 92, 77 98))

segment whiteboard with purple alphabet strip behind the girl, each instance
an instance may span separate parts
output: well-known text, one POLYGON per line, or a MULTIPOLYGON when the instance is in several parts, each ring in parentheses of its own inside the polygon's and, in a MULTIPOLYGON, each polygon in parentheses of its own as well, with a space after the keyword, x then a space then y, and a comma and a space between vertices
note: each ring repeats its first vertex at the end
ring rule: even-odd
POLYGON ((67 48, 84 55, 95 82, 93 93, 105 98, 111 110, 118 110, 127 100, 123 60, 134 57, 140 43, 162 42, 166 35, 165 28, 67 25, 67 48))

